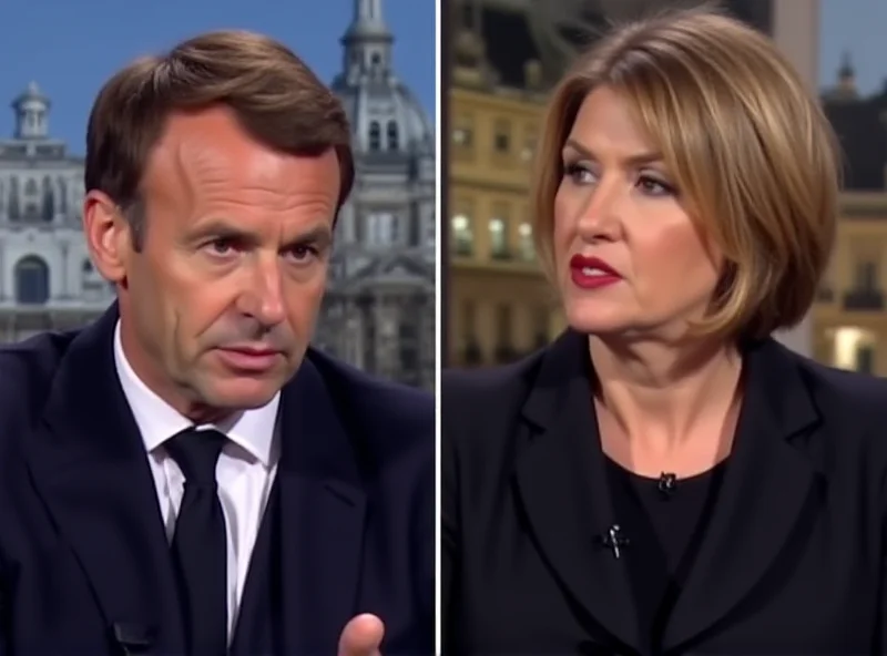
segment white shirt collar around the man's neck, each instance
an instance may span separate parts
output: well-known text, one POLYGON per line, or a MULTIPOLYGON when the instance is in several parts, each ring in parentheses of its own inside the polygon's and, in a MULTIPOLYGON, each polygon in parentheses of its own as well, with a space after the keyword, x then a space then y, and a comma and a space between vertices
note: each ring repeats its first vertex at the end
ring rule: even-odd
MULTIPOLYGON (((149 389, 135 373, 123 352, 119 320, 114 328, 114 365, 123 394, 149 453, 176 433, 194 428, 193 422, 149 389)), ((265 467, 271 467, 277 453, 275 424, 279 403, 281 393, 277 392, 261 408, 244 410, 217 424, 201 424, 196 428, 213 428, 224 433, 265 467)))

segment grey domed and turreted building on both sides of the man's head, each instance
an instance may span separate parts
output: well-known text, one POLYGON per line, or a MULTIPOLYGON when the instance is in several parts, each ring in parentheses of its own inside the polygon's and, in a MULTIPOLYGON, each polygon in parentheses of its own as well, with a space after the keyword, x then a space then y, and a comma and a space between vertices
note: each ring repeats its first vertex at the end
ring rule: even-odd
MULTIPOLYGON (((336 228, 315 344, 409 385, 435 381, 435 140, 391 70, 380 0, 357 0, 333 83, 354 130, 357 180, 336 228)), ((82 326, 114 299, 81 227, 83 160, 49 130, 35 84, 0 141, 0 340, 82 326)))

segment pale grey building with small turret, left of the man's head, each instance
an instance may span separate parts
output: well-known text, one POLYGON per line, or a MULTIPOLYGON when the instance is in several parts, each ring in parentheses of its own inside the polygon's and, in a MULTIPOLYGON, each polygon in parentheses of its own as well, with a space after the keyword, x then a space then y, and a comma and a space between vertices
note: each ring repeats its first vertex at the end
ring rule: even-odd
POLYGON ((83 161, 49 132, 50 101, 31 84, 0 141, 0 340, 68 329, 98 317, 113 290, 81 230, 83 161))

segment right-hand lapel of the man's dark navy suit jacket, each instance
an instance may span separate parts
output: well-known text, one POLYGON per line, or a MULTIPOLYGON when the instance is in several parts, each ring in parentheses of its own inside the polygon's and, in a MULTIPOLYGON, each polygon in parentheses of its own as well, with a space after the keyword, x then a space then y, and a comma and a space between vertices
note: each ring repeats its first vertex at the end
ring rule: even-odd
POLYGON ((366 496, 336 390, 305 359, 284 388, 281 572, 286 654, 333 654, 358 613, 366 496))

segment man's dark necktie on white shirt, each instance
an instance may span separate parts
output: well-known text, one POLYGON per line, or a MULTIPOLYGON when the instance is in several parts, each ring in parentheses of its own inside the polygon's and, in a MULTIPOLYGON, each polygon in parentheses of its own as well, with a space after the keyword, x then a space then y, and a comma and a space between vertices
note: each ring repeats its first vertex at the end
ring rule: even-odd
POLYGON ((188 429, 166 442, 185 476, 173 536, 173 563, 185 614, 188 654, 227 652, 227 540, 215 467, 225 435, 188 429))

